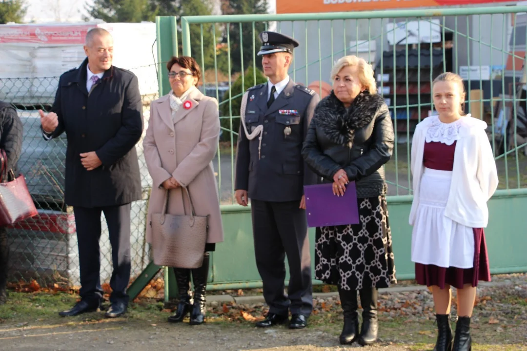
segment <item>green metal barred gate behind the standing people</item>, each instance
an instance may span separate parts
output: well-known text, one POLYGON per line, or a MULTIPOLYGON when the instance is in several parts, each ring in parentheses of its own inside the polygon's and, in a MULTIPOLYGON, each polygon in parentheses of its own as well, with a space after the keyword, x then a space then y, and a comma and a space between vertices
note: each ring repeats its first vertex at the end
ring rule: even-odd
MULTIPOLYGON (((486 229, 491 271, 527 272, 527 135, 521 135, 527 125, 523 126, 520 111, 526 101, 522 95, 524 83, 520 83, 525 82, 522 68, 527 62, 526 12, 527 6, 506 6, 192 16, 181 18, 181 41, 176 19, 158 17, 160 96, 170 89, 165 63, 172 55, 193 55, 207 73, 202 78, 203 91, 220 102, 223 142, 215 162, 225 242, 213 253, 209 289, 261 286, 253 255, 250 209, 236 205, 232 196, 237 106, 245 89, 259 82, 255 55, 260 44, 259 28, 274 29, 300 42, 290 76, 297 83, 316 87, 319 94, 327 90, 322 82, 330 84, 331 65, 339 57, 355 54, 373 63, 379 92, 389 99, 397 131, 394 156, 386 165, 386 174, 398 279, 414 278, 410 260, 412 229, 408 225, 412 202, 408 161, 413 128, 433 109, 431 82, 438 73, 451 67, 453 72, 468 74, 467 110, 489 124, 500 176, 499 190, 489 202, 490 224, 486 229), (406 37, 401 37, 402 31, 406 37), (417 43, 412 42, 412 35, 417 43), (233 42, 232 37, 238 41, 233 42), (233 74, 234 65, 249 71, 233 74)), ((313 250, 313 230, 310 237, 313 250)), ((150 265, 147 275, 134 283, 131 292, 138 293, 144 280, 158 269, 150 265)))

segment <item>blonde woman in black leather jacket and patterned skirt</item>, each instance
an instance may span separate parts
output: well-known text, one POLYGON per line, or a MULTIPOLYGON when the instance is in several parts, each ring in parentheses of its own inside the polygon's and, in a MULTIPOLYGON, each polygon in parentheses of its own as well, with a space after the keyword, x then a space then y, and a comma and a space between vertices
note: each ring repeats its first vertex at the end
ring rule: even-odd
POLYGON ((356 182, 360 223, 317 228, 315 277, 338 286, 344 310, 341 344, 377 339, 377 289, 396 283, 383 165, 392 156, 394 130, 370 65, 340 58, 331 71, 333 91, 320 101, 302 156, 321 178, 344 195, 356 182), (357 290, 363 306, 358 333, 357 290))

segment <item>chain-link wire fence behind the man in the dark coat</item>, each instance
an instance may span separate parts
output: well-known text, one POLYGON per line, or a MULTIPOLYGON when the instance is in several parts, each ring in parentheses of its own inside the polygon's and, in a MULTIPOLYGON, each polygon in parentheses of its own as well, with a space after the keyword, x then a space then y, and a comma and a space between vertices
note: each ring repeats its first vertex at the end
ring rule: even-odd
MULTIPOLYGON (((150 103, 158 98, 155 65, 131 69, 139 78, 143 97, 144 133, 148 127, 150 103)), ((66 135, 46 142, 40 129, 38 109, 49 111, 59 77, 0 79, 0 100, 17 108, 24 126, 22 155, 18 170, 38 208, 38 215, 8 228, 9 281, 41 286, 80 286, 79 249, 73 209, 64 203, 66 135)), ((141 172, 142 199, 132 203, 132 280, 150 262, 145 238, 151 177, 144 161, 142 138, 136 144, 141 172)), ((112 274, 111 245, 106 221, 101 217, 101 283, 112 274)), ((106 284, 104 284, 106 285, 106 284)))

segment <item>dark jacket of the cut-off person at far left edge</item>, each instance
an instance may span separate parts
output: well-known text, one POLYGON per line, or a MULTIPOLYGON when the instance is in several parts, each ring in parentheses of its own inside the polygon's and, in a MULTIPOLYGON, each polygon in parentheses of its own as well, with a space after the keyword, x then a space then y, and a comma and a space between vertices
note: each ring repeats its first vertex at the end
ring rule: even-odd
POLYGON ((18 176, 16 163, 22 153, 22 140, 22 121, 16 109, 13 105, 0 101, 0 149, 7 155, 7 169, 13 169, 15 176, 18 176))

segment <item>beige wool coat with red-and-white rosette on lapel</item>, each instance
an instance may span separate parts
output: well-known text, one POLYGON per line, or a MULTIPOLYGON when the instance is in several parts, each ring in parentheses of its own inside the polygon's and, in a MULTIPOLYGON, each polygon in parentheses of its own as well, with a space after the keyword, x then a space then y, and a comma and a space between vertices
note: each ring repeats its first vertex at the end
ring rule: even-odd
MULTIPOLYGON (((153 180, 147 221, 147 242, 152 242, 151 217, 161 213, 165 189, 161 184, 174 177, 187 186, 198 216, 209 215, 207 243, 223 241, 218 184, 212 159, 218 150, 220 119, 218 101, 193 89, 172 118, 170 97, 165 95, 150 105, 150 121, 144 137, 144 157, 153 180)), ((190 214, 190 204, 181 187, 170 190, 167 212, 190 214), (183 208, 184 198, 184 208, 183 208)))

